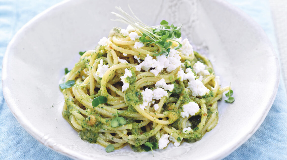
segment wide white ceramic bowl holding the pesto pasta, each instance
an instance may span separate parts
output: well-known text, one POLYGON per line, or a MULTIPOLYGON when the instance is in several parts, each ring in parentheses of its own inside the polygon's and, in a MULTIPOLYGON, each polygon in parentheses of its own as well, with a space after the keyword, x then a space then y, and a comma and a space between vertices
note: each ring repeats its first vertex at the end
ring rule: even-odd
POLYGON ((278 59, 263 30, 246 14, 221 0, 65 1, 28 22, 14 36, 3 59, 3 93, 20 124, 38 141, 75 159, 220 159, 243 144, 268 113, 279 82, 278 59), (219 123, 198 142, 134 153, 106 153, 82 141, 62 118, 58 82, 79 51, 94 48, 114 26, 115 6, 127 3, 147 24, 162 19, 183 23, 183 35, 208 53, 221 85, 232 82, 235 102, 220 102, 219 123))

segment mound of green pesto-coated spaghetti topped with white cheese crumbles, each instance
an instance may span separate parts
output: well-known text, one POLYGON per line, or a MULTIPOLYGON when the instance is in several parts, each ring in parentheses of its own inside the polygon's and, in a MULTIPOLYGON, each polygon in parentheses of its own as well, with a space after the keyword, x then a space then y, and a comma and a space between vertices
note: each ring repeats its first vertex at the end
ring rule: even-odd
POLYGON ((128 144, 141 152, 146 142, 163 149, 199 141, 217 125, 217 101, 230 87, 220 87, 212 64, 188 39, 166 40, 163 49, 141 36, 132 26, 113 28, 84 52, 65 78, 75 84, 62 91, 63 117, 82 140, 103 147, 128 144), (162 50, 168 55, 157 55, 162 50), (92 106, 98 96, 107 102, 92 106), (125 123, 114 122, 121 117, 125 123))

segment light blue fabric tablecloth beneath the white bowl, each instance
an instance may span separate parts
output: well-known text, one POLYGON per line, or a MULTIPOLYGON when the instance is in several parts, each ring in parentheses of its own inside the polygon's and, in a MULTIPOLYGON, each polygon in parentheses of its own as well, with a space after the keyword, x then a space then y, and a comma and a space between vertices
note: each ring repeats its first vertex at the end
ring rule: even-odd
MULTIPOLYGON (((277 50, 268 0, 226 0, 249 14, 277 50)), ((8 42, 30 19, 60 0, 0 0, 0 70, 8 42)), ((1 75, 0 75, 1 77, 1 75)), ((225 159, 287 159, 287 103, 282 78, 276 99, 262 125, 225 159)), ((69 159, 39 143, 14 118, 0 83, 0 159, 69 159)))

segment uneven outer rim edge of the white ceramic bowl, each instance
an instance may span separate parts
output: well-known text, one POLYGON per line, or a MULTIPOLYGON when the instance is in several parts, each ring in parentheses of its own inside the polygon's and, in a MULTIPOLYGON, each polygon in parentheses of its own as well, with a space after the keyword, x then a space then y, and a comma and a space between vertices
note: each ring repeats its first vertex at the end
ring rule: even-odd
MULTIPOLYGON (((3 77, 7 77, 7 64, 8 64, 8 54, 11 50, 11 48, 13 47, 13 44, 15 43, 15 41, 18 39, 19 36, 21 36, 21 34, 25 33, 25 29, 29 28, 29 26, 33 25, 35 22, 41 20, 42 18, 45 18, 44 15, 46 15, 47 13, 53 11, 53 9, 62 7, 63 5, 66 5, 67 3, 72 3, 73 1, 78 1, 78 0, 64 0, 60 3, 57 3, 51 7, 49 7, 48 9, 44 10, 43 12, 39 13, 38 15, 36 15, 35 17, 33 17, 30 21, 28 21, 24 26, 22 26, 22 28, 20 28, 20 30, 18 30, 16 32, 16 34, 13 36, 13 38, 11 39, 11 41, 9 42, 9 44, 7 45, 7 49, 5 52, 5 55, 3 57, 3 62, 2 62, 2 88, 3 88, 3 96, 5 98, 5 101, 7 103, 7 106, 9 107, 9 109, 11 110, 13 116, 17 119, 17 121, 21 124, 21 126, 30 134, 32 135, 37 141, 39 141, 40 143, 42 143, 44 146, 49 147, 50 149, 52 149, 53 151, 56 151, 58 153, 61 153, 62 155, 65 155, 67 157, 73 158, 73 159, 84 159, 85 156, 81 155, 81 154, 77 154, 77 153, 71 153, 69 152, 69 150, 65 149, 65 147, 62 146, 53 146, 50 143, 46 143, 45 139, 41 136, 40 131, 37 128, 34 128, 30 122, 28 120, 25 119, 24 115, 22 114, 22 112, 17 110, 17 105, 12 101, 13 97, 11 96, 11 94, 9 94, 9 88, 5 87, 7 86, 5 81, 3 82, 3 77)), ((223 151, 222 153, 217 154, 217 157, 212 157, 212 159, 222 159, 224 157, 226 157, 227 155, 229 155, 230 153, 232 153, 234 150, 236 150, 238 147, 240 147, 243 143, 245 143, 255 132, 256 130, 259 128, 259 126, 262 124, 263 120, 265 119, 265 117, 267 116, 274 100, 277 94, 277 90, 279 87, 279 79, 280 79, 280 67, 279 67, 279 61, 278 61, 278 55, 276 54, 274 47, 272 46, 269 38, 267 37, 266 33, 264 32, 264 30, 261 28, 261 26, 259 26, 259 24, 257 24, 257 22, 255 22, 255 20, 253 20, 249 15, 247 15, 247 13, 243 12, 241 9, 238 9, 237 7, 231 5, 230 3, 223 1, 223 0, 213 0, 217 3, 220 3, 222 6, 224 6, 224 8, 230 9, 232 11, 234 11, 234 13, 236 13, 238 16, 244 18, 245 20, 247 20, 249 22, 249 24, 257 29, 258 34, 263 36, 263 39, 261 39, 262 41, 266 42, 266 44, 268 45, 268 47, 270 47, 272 49, 272 56, 274 57, 274 63, 276 64, 276 83, 274 84, 274 89, 273 89, 273 93, 272 93, 272 98, 269 99, 267 105, 265 106, 265 112, 264 114, 262 114, 260 119, 257 119, 257 122, 255 124, 255 127, 252 130, 249 130, 248 133, 244 136, 242 136, 241 138, 239 138, 237 140, 237 143, 234 143, 234 145, 232 145, 232 147, 228 150, 223 151)))

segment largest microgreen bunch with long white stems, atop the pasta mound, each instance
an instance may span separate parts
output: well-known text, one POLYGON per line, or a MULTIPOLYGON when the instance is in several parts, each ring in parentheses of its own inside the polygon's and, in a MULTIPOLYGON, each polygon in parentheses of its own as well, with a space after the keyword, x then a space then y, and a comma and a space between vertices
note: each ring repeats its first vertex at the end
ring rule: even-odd
MULTIPOLYGON (((141 22, 141 20, 139 20, 139 18, 135 16, 133 11, 131 10, 131 7, 129 7, 129 9, 133 14, 133 16, 123 11, 121 7, 115 7, 115 8, 118 11, 120 11, 122 15, 115 12, 111 12, 112 14, 116 15, 119 18, 119 19, 112 19, 112 21, 118 21, 131 25, 133 28, 135 28, 137 31, 140 32, 141 34, 141 37, 139 38, 140 42, 147 43, 147 45, 150 45, 152 43, 157 45, 161 51, 154 54, 154 56, 159 56, 161 54, 168 56, 168 53, 170 52, 169 47, 172 45, 171 41, 178 42, 174 39, 181 37, 182 25, 180 27, 176 27, 173 24, 169 26, 168 22, 162 20, 162 22, 160 22, 160 25, 158 26, 149 26, 141 22)), ((174 49, 177 50, 181 47, 182 45, 179 43, 179 46, 175 47, 174 49)))

